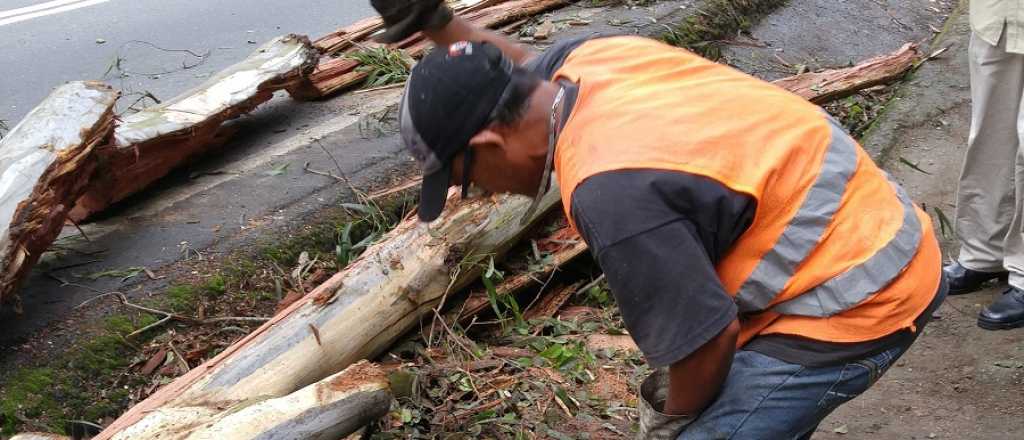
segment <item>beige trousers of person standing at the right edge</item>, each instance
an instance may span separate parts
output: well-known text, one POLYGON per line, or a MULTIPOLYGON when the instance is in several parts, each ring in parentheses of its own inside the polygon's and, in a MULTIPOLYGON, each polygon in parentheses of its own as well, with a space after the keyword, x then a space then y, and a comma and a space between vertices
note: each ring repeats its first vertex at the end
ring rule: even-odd
POLYGON ((959 263, 1024 289, 1024 54, 971 36, 971 134, 956 191, 959 263))

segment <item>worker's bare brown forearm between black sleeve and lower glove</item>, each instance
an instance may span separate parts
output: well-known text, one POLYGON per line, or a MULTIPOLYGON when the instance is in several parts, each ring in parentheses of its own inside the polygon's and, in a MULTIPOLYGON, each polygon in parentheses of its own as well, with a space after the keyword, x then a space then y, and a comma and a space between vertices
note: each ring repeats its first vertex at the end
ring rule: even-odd
POLYGON ((696 415, 715 399, 732 366, 739 336, 733 320, 718 336, 669 367, 669 398, 664 412, 696 415))

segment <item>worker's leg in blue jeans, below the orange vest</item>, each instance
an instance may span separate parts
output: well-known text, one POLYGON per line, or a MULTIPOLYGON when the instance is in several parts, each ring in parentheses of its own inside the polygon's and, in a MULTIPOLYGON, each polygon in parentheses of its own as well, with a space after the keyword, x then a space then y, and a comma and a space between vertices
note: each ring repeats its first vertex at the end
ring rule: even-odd
POLYGON ((908 347, 826 367, 737 351, 722 393, 679 439, 810 438, 828 413, 867 391, 908 347))

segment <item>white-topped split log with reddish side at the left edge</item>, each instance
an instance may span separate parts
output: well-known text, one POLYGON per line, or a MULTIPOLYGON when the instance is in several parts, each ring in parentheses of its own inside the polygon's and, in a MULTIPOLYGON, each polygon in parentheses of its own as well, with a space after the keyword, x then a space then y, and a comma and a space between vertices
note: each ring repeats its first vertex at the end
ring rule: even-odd
POLYGON ((0 140, 0 301, 56 239, 114 128, 118 92, 98 82, 57 87, 0 140))

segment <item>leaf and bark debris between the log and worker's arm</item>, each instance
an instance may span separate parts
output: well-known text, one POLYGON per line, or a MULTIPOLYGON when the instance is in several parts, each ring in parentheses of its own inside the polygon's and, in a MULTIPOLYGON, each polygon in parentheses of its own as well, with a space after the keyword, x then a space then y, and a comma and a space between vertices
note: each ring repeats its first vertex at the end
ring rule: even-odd
POLYGON ((567 232, 552 216, 505 263, 488 262, 462 304, 382 357, 401 369, 372 438, 632 437, 633 390, 648 367, 607 285, 587 282, 593 262, 556 263, 578 246, 567 232))

